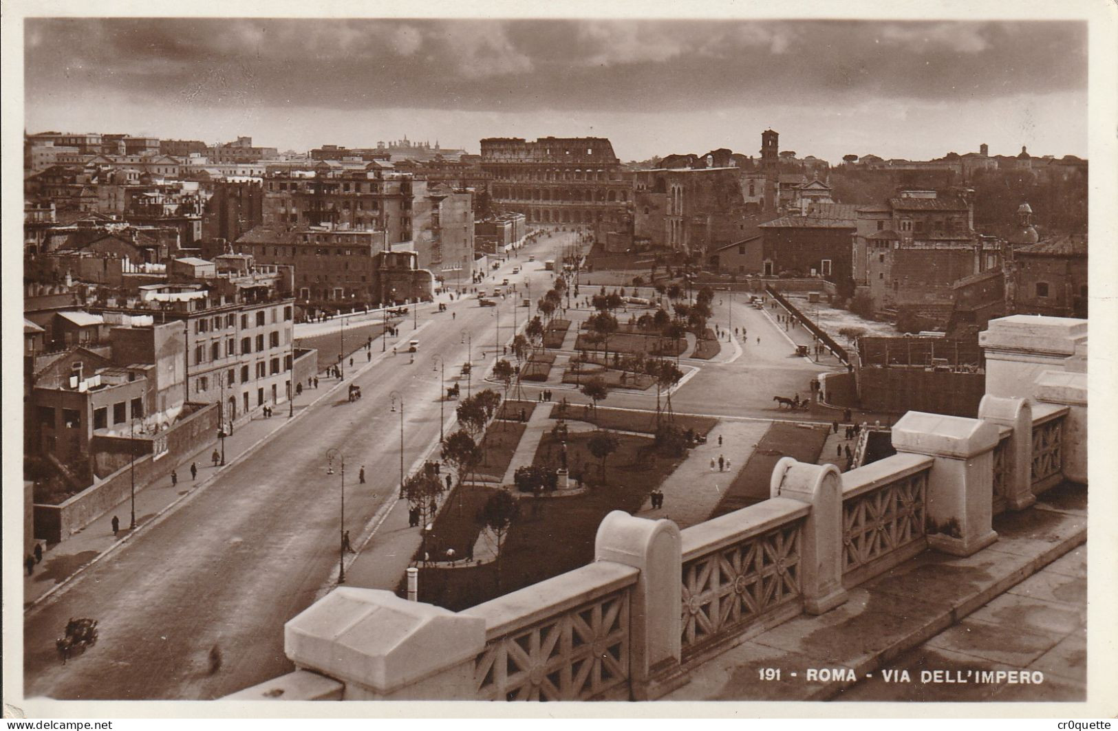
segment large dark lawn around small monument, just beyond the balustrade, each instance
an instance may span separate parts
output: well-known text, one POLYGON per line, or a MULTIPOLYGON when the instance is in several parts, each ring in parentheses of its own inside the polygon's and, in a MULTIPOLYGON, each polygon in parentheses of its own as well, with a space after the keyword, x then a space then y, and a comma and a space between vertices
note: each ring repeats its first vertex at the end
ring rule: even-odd
MULTIPOLYGON (((635 512, 648 492, 662 483, 679 464, 676 459, 652 456, 652 439, 617 435, 617 452, 606 461, 606 480, 598 475, 599 461, 586 449, 589 434, 572 434, 567 440, 572 474, 587 462, 587 476, 596 485, 577 497, 523 499, 498 567, 489 563, 466 569, 420 571, 420 600, 461 610, 514 591, 543 579, 577 569, 594 560, 594 539, 601 520, 614 510, 635 512)), ((682 459, 682 458, 681 458, 682 459)), ((558 464, 559 445, 543 436, 534 464, 558 464), (550 456, 549 456, 550 454, 550 456)), ((475 511, 476 513, 476 511, 475 511)), ((456 511, 447 511, 455 515, 456 511)), ((461 520, 473 520, 464 511, 461 520)), ((435 530, 436 534, 438 529, 435 530)), ((458 548, 455 548, 457 553, 458 548)))

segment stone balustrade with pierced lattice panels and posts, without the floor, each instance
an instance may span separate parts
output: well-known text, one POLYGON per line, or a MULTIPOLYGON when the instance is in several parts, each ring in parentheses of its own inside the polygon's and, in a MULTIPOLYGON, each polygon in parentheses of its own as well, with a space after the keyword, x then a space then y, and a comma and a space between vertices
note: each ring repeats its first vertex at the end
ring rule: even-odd
MULTIPOLYGON (((1035 331, 1045 320, 1010 324, 1035 331)), ((828 611, 920 551, 989 545, 996 512, 1027 509, 1064 480, 1086 483, 1086 343, 1033 335, 1046 343, 1042 364, 1064 353, 1069 367, 1021 366, 1027 353, 995 338, 1015 363, 1003 370, 1030 374, 1027 388, 991 389, 978 418, 906 414, 891 457, 844 474, 785 457, 769 500, 684 531, 615 511, 593 563, 459 613, 339 587, 287 623, 296 671, 231 697, 659 697, 690 667, 800 613, 828 611)))

